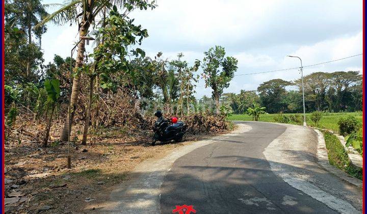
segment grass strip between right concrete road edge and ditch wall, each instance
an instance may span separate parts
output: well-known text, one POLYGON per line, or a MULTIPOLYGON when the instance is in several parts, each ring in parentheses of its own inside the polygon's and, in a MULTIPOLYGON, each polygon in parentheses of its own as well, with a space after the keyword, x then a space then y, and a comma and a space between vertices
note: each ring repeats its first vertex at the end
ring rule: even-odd
POLYGON ((347 152, 344 150, 343 145, 339 139, 333 134, 323 131, 326 149, 328 151, 329 163, 340 170, 347 172, 348 174, 362 180, 362 169, 359 169, 352 165, 348 158, 347 152))

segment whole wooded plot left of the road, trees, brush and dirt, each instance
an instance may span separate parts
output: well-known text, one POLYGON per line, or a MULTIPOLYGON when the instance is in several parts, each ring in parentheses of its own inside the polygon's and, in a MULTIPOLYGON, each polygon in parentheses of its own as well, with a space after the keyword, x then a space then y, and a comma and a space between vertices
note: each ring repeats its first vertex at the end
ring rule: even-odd
POLYGON ((219 100, 237 59, 222 46, 193 62, 183 53, 146 56, 148 30, 129 16, 155 7, 142 0, 5 1, 6 213, 98 210, 139 163, 187 144, 150 146, 156 110, 186 123, 188 143, 233 129, 219 100), (42 48, 57 50, 41 46, 50 22, 78 32, 80 41, 65 44, 76 45, 75 58, 55 52, 44 62, 42 48), (87 39, 94 39, 91 53, 87 39), (214 105, 194 97, 199 68, 214 105))

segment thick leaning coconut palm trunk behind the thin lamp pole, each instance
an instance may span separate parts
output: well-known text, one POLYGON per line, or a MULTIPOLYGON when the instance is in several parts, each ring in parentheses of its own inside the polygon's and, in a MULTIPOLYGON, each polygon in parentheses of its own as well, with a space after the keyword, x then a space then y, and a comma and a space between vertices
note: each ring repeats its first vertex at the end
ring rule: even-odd
MULTIPOLYGON (((88 32, 89 26, 90 26, 90 24, 88 22, 86 22, 84 25, 82 25, 81 29, 80 29, 80 32, 79 32, 79 35, 80 36, 86 35, 87 32, 88 32)), ((75 70, 77 70, 78 68, 83 66, 84 52, 85 52, 85 40, 82 40, 78 44, 77 56, 76 56, 76 61, 75 61, 75 70)), ((75 111, 76 111, 76 106, 77 106, 79 93, 80 93, 80 78, 79 78, 79 76, 74 76, 73 86, 72 86, 72 90, 71 90, 71 98, 70 98, 70 111, 71 111, 71 113, 70 113, 70 118, 69 118, 69 114, 66 117, 66 120, 65 120, 65 123, 64 123, 64 128, 61 132, 61 137, 60 137, 61 141, 68 141, 68 138, 70 136, 69 129, 70 129, 70 132, 71 132, 72 121, 73 121, 74 114, 75 114, 75 111)))

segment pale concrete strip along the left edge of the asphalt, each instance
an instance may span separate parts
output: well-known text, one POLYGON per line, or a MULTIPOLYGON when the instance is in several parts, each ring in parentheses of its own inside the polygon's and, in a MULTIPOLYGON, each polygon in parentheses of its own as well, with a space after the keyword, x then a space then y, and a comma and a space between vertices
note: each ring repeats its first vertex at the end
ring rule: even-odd
POLYGON ((147 159, 139 164, 131 173, 137 176, 116 187, 101 213, 160 213, 160 187, 176 159, 216 140, 237 136, 252 129, 243 123, 237 125, 238 128, 230 133, 179 147, 161 159, 147 159))

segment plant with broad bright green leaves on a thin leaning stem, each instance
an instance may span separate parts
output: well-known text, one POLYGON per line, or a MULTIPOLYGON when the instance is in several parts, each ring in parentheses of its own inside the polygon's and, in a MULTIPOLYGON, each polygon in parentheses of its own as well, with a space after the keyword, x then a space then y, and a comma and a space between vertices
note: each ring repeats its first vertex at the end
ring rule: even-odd
POLYGON ((60 81, 59 79, 46 80, 44 83, 44 88, 47 92, 47 100, 51 103, 51 115, 48 119, 48 123, 45 130, 45 136, 43 139, 43 146, 47 146, 49 131, 51 128, 51 122, 54 115, 57 100, 60 97, 60 81))

